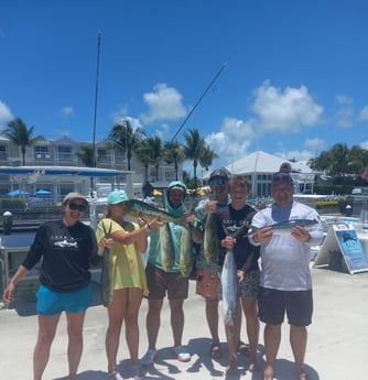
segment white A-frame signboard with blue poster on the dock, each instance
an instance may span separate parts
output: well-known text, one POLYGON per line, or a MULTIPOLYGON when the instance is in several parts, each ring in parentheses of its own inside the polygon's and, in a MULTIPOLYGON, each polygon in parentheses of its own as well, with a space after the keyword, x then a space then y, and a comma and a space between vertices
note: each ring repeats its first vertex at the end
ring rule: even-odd
POLYGON ((367 272, 368 261, 357 231, 351 225, 333 225, 321 247, 313 267, 326 267, 349 272, 367 272))

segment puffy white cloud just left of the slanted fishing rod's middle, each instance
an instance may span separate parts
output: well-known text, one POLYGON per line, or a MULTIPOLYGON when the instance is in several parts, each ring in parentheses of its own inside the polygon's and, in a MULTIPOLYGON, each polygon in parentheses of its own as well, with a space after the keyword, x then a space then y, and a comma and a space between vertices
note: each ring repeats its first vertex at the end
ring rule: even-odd
POLYGON ((144 123, 177 120, 187 113, 182 104, 182 95, 165 84, 155 85, 153 93, 143 95, 143 100, 149 107, 148 112, 140 116, 144 123))

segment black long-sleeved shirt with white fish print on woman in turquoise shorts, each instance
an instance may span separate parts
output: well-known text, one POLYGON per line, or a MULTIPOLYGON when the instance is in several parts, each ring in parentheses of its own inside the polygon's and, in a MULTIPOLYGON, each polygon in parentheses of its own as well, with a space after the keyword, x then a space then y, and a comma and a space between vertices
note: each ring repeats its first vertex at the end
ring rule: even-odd
POLYGON ((94 230, 78 221, 72 227, 62 220, 40 226, 22 264, 34 267, 41 259, 40 282, 56 292, 73 292, 89 284, 89 264, 97 264, 94 230))

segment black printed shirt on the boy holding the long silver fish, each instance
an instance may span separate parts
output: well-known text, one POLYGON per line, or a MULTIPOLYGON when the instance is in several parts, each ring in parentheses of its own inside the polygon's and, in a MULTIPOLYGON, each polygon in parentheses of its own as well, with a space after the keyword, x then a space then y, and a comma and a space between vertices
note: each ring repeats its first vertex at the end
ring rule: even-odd
MULTIPOLYGON (((241 209, 232 208, 231 204, 227 207, 221 207, 214 214, 217 236, 219 240, 226 238, 226 236, 231 236, 240 229, 240 232, 236 235, 236 245, 234 246, 234 257, 238 270, 249 270, 258 268, 258 259, 260 256, 259 247, 252 246, 248 240, 248 228, 243 227, 243 224, 250 225, 252 216, 256 210, 249 205, 245 205, 241 209), (225 232, 225 228, 228 234, 225 232)), ((218 264, 224 265, 224 259, 226 254, 226 249, 220 247, 218 256, 218 264)))

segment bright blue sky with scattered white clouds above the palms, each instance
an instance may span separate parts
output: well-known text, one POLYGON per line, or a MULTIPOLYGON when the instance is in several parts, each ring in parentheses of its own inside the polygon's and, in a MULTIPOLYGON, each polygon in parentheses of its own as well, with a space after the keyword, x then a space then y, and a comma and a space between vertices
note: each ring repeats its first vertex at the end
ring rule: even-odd
POLYGON ((93 140, 129 117, 170 141, 196 128, 227 165, 368 149, 366 0, 35 0, 0 12, 0 129, 93 140), (224 69, 224 64, 227 63, 224 69))

